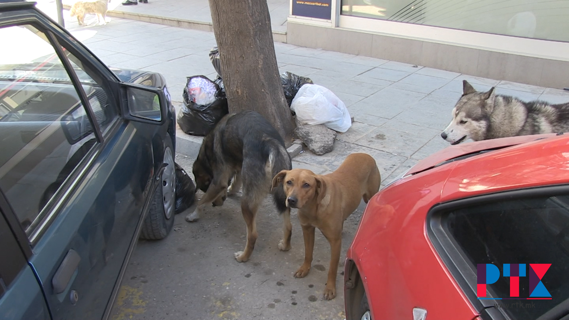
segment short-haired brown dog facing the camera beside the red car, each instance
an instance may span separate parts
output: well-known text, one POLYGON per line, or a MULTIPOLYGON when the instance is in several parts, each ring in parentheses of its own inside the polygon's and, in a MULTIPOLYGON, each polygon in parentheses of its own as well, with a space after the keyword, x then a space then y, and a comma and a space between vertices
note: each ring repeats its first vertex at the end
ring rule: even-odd
POLYGON ((281 183, 287 207, 298 208, 304 234, 304 263, 294 276, 302 278, 310 271, 314 231, 319 228, 330 243, 332 253, 324 298, 333 299, 336 297, 344 220, 360 205, 360 199, 368 203, 380 190, 381 177, 376 161, 369 154, 353 153, 336 171, 327 175, 304 169, 282 170, 273 178, 273 188, 281 183))

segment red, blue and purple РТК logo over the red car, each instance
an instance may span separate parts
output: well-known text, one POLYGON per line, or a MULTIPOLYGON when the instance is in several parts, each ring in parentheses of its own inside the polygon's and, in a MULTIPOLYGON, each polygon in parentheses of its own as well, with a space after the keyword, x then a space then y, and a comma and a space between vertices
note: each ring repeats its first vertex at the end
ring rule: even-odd
MULTIPOLYGON (((504 264, 502 276, 510 278, 510 298, 492 299, 540 299, 537 297, 549 297, 551 294, 541 282, 543 275, 551 264, 529 264, 529 292, 530 298, 519 298, 519 277, 526 277, 526 264, 504 264), (517 298, 512 298, 517 297, 517 298)), ((486 297, 486 285, 493 284, 500 278, 500 270, 493 264, 478 264, 476 270, 476 296, 479 299, 486 297)), ((486 298, 488 299, 488 298, 486 298)))

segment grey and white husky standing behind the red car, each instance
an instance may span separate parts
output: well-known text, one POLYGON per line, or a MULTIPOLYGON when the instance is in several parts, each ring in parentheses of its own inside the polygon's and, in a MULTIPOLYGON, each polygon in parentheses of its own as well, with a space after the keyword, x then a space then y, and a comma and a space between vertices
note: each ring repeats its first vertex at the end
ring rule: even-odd
POLYGON ((463 80, 463 95, 452 109, 452 121, 440 136, 452 145, 474 141, 569 131, 569 102, 523 102, 514 97, 476 91, 463 80))

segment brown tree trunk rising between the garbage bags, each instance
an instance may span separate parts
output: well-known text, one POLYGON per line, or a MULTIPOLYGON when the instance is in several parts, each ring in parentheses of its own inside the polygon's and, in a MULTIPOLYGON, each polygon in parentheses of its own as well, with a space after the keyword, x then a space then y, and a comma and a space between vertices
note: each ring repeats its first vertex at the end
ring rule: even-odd
POLYGON ((229 112, 255 110, 290 145, 294 123, 284 98, 267 0, 209 0, 229 112))

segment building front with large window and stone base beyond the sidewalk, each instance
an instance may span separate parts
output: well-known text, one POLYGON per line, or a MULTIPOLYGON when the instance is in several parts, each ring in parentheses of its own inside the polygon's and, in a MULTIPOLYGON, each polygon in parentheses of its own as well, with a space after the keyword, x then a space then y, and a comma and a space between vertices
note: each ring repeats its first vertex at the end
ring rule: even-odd
POLYGON ((569 87, 568 0, 291 0, 287 42, 569 87))

